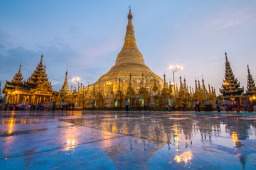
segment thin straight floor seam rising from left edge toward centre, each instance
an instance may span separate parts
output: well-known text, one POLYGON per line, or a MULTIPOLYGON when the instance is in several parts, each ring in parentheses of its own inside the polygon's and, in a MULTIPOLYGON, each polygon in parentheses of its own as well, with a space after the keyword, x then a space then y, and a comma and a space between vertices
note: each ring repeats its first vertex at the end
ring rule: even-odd
POLYGON ((91 142, 80 143, 80 144, 77 144, 77 145, 71 145, 71 146, 65 146, 65 147, 58 147, 58 148, 54 148, 54 149, 48 149, 48 150, 44 150, 44 151, 41 151, 41 152, 33 152, 33 153, 29 153, 29 154, 21 154, 21 155, 12 156, 12 157, 0 158, 0 161, 5 160, 5 159, 12 159, 12 158, 16 158, 16 157, 24 157, 24 156, 28 156, 28 155, 32 155, 32 154, 40 154, 40 153, 43 153, 43 152, 50 152, 50 151, 54 151, 54 150, 58 150, 58 149, 65 149, 65 148, 69 148, 69 147, 78 147, 80 145, 87 145, 87 144, 90 144, 90 143, 102 142, 102 141, 105 141, 105 140, 114 140, 116 138, 121 138, 121 137, 126 137, 126 136, 123 135, 123 136, 119 136, 119 137, 111 137, 111 138, 107 138, 107 139, 103 139, 103 140, 95 140, 95 141, 91 141, 91 142))

